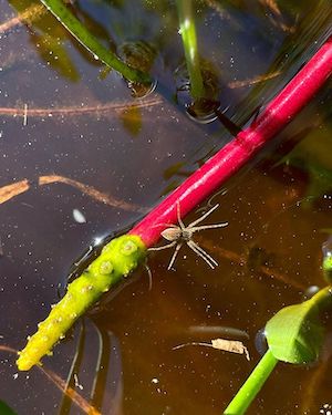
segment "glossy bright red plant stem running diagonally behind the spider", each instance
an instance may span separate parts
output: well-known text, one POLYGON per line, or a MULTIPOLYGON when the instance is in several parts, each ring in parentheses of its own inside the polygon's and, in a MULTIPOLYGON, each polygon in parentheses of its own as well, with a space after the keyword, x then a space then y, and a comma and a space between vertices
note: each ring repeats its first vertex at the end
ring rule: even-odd
POLYGON ((330 38, 268 104, 260 116, 214 157, 168 195, 131 231, 147 247, 155 245, 166 224, 177 222, 177 203, 181 217, 211 195, 250 160, 308 104, 332 72, 332 38, 330 38))

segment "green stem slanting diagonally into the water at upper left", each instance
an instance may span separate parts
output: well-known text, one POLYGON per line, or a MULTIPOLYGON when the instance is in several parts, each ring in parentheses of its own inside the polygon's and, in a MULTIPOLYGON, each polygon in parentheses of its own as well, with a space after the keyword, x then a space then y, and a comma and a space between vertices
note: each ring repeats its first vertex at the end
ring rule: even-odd
POLYGON ((40 0, 69 32, 96 59, 120 72, 125 79, 141 84, 152 83, 149 74, 126 65, 112 51, 104 48, 90 31, 66 9, 61 0, 40 0))

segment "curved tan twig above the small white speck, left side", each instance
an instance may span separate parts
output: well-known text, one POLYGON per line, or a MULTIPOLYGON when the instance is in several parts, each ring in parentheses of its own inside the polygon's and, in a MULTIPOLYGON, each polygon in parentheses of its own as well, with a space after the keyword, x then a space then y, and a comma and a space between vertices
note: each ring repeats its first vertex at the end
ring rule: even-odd
MULTIPOLYGON (((110 194, 100 191, 92 186, 84 185, 81 181, 58 175, 40 176, 38 179, 39 186, 52 185, 56 183, 63 183, 65 185, 72 186, 82 191, 82 194, 90 196, 94 200, 101 201, 105 205, 117 207, 126 211, 138 211, 141 214, 146 214, 147 208, 138 205, 129 204, 125 200, 116 199, 110 194)), ((6 185, 0 187, 0 205, 12 199, 15 196, 21 195, 30 189, 29 179, 23 179, 11 185, 6 185)))

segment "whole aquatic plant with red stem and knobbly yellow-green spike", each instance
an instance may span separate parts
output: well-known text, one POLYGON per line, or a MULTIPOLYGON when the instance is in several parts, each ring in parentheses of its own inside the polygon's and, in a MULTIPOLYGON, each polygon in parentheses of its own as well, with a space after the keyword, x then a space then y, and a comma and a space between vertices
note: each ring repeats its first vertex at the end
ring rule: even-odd
POLYGON ((307 65, 277 95, 252 125, 240 132, 205 165, 167 196, 128 235, 111 241, 101 257, 73 281, 39 331, 28 340, 18 366, 29 370, 50 353, 65 331, 111 286, 126 278, 155 245, 160 234, 177 221, 177 207, 187 215, 248 163, 323 85, 332 69, 332 40, 328 40, 307 65))

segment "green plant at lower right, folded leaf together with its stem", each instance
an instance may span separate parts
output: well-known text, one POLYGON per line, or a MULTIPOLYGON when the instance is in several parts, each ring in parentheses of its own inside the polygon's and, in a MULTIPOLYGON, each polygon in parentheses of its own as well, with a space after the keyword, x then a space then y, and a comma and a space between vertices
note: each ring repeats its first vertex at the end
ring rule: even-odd
MULTIPOLYGON (((332 263, 323 257, 323 273, 331 273, 332 263)), ((332 308, 332 287, 328 286, 311 299, 281 309, 268 321, 264 334, 268 351, 225 409, 225 415, 245 414, 279 361, 308 364, 320 356, 324 324, 320 315, 332 308)))

